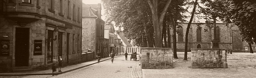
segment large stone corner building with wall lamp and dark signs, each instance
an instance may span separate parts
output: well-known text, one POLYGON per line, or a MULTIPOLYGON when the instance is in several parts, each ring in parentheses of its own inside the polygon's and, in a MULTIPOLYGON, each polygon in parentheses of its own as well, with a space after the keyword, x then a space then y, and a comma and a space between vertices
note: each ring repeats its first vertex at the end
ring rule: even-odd
POLYGON ((81 12, 81 0, 1 0, 0 72, 49 69, 58 56, 79 63, 81 12))

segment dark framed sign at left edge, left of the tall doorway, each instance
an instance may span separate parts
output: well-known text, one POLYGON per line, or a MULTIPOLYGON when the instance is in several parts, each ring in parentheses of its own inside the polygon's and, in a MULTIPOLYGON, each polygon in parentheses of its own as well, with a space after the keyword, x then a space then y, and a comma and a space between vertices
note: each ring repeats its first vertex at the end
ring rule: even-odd
POLYGON ((10 55, 10 40, 0 40, 0 56, 10 55))

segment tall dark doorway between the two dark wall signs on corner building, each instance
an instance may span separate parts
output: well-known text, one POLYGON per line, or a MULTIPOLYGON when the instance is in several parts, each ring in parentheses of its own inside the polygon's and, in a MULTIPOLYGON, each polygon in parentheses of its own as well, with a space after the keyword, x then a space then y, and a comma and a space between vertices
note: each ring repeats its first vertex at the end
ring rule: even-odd
POLYGON ((29 28, 16 28, 15 67, 28 66, 29 64, 29 34, 29 28))

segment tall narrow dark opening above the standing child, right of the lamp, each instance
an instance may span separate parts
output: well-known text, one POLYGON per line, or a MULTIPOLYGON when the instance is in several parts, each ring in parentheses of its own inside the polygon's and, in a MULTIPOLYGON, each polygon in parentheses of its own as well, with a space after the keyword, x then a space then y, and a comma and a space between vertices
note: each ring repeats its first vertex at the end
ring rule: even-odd
POLYGON ((58 35, 58 55, 62 57, 62 34, 63 32, 59 32, 58 35))

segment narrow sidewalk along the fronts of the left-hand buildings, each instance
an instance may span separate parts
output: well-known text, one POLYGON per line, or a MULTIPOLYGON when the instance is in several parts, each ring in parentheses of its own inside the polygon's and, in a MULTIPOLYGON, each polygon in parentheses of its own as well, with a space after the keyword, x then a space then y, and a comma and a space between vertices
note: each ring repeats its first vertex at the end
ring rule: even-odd
MULTIPOLYGON (((124 55, 118 55, 115 57, 120 57, 124 55)), ((111 57, 107 58, 101 58, 101 61, 105 61, 111 59, 111 57)), ((96 64, 98 61, 97 60, 92 60, 92 61, 87 61, 79 64, 74 64, 74 65, 69 65, 64 68, 61 68, 62 72, 55 72, 55 74, 61 74, 61 73, 66 73, 72 70, 76 70, 82 67, 86 67, 92 64, 96 64)), ((58 68, 57 68, 58 71, 58 68)), ((52 70, 38 70, 38 71, 29 71, 29 72, 8 72, 8 73, 0 73, 0 76, 23 76, 23 75, 52 75, 52 70)))

